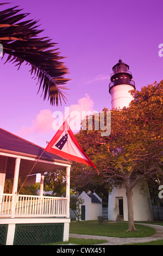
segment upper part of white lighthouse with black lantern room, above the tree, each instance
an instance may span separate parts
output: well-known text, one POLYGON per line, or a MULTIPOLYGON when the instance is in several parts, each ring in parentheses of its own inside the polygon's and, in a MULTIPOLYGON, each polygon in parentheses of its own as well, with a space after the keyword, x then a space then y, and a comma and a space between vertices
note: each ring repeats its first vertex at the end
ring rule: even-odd
POLYGON ((129 65, 120 59, 112 68, 113 73, 110 76, 109 93, 111 94, 111 108, 128 107, 133 96, 129 90, 135 89, 133 75, 129 71, 129 65))

